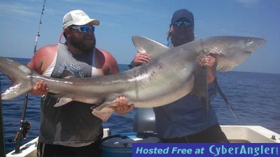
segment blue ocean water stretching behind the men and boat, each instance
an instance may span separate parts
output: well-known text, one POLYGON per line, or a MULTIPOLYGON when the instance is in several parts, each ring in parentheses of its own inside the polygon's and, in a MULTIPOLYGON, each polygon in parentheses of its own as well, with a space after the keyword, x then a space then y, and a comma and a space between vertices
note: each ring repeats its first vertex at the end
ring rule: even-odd
MULTIPOLYGON (((29 59, 18 59, 27 63, 29 59)), ((127 70, 125 64, 120 64, 121 71, 127 70)), ((10 87, 8 77, 0 73, 2 92, 10 87)), ((280 74, 225 72, 217 73, 218 83, 228 100, 235 108, 237 119, 232 115, 220 95, 211 102, 216 110, 220 124, 225 125, 258 125, 280 133, 280 74)), ((24 96, 3 101, 3 124, 6 142, 6 153, 15 149, 13 139, 20 126, 22 103, 24 96)), ((26 140, 29 142, 38 136, 40 123, 40 97, 29 95, 25 121, 31 122, 31 129, 26 140)), ((104 128, 110 128, 112 135, 133 132, 133 121, 136 109, 125 115, 113 114, 104 123, 104 128)))

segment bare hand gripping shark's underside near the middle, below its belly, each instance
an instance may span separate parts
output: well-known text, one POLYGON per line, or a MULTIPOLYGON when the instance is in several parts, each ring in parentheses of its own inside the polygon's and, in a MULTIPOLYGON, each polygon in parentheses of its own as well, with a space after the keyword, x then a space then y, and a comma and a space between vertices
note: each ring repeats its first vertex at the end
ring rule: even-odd
POLYGON ((127 114, 134 109, 134 105, 127 104, 127 98, 125 96, 120 96, 116 98, 116 106, 112 106, 113 110, 118 114, 127 114))

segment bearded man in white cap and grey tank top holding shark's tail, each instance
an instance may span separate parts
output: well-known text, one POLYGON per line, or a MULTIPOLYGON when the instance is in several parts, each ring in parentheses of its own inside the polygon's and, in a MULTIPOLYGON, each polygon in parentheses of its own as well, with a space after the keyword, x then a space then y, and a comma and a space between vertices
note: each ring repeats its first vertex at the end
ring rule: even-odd
MULTIPOLYGON (((29 68, 49 77, 95 77, 118 73, 116 59, 95 47, 94 27, 99 20, 91 19, 82 10, 72 10, 63 17, 66 39, 57 45, 41 47, 28 63, 29 68)), ((61 38, 61 37, 60 37, 61 38)), ((38 82, 31 94, 45 95, 41 101, 41 127, 38 156, 99 156, 103 136, 102 120, 92 115, 90 105, 71 102, 53 107, 57 96, 48 92, 48 84, 38 82)), ((133 109, 124 97, 116 99, 119 114, 133 109)))

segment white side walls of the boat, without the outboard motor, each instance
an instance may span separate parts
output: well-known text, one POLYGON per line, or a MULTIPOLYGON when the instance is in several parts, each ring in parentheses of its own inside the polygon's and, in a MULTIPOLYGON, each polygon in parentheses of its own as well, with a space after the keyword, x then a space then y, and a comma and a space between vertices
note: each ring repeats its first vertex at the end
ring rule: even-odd
MULTIPOLYGON (((232 143, 280 143, 280 134, 262 126, 221 126, 223 132, 232 143)), ((110 136, 110 129, 104 128, 104 137, 110 136)), ((10 151, 7 157, 36 156, 38 137, 20 147, 20 154, 10 151)))

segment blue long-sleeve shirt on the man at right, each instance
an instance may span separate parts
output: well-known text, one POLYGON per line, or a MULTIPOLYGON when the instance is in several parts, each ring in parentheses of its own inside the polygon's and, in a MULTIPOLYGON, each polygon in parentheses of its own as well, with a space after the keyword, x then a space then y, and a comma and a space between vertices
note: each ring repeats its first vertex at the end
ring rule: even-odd
MULTIPOLYGON (((211 102, 218 93, 216 80, 208 84, 208 92, 211 102)), ((168 105, 154 107, 153 110, 157 133, 164 139, 185 137, 218 124, 211 103, 207 117, 202 101, 194 94, 188 94, 168 105)))

